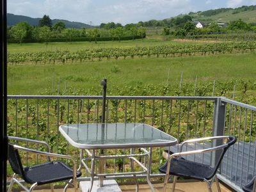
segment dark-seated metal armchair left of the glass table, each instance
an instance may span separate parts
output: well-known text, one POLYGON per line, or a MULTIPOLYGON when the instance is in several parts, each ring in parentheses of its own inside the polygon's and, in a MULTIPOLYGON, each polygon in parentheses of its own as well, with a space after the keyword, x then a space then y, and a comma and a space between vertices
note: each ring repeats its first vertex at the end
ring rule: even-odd
POLYGON ((77 177, 81 176, 81 172, 76 170, 76 161, 71 156, 65 156, 61 154, 54 154, 49 152, 49 145, 44 141, 29 140, 24 138, 17 137, 8 137, 9 140, 24 141, 28 143, 36 143, 37 145, 45 145, 47 147, 47 152, 42 152, 40 150, 34 150, 31 148, 21 147, 12 143, 8 143, 8 161, 12 170, 14 172, 12 180, 10 181, 10 187, 8 192, 12 190, 13 183, 16 182, 26 191, 33 191, 36 186, 43 184, 51 184, 51 191, 54 190, 52 183, 58 181, 69 180, 67 185, 64 188, 64 191, 67 190, 68 186, 74 186, 74 190, 77 192, 77 177), (47 156, 48 162, 42 164, 36 164, 34 166, 22 166, 22 161, 20 159, 19 150, 25 152, 30 152, 33 154, 38 154, 41 156, 47 156), (51 157, 58 157, 61 159, 69 159, 72 161, 73 167, 70 168, 67 164, 61 161, 51 161, 51 157), (16 178, 16 175, 19 175, 24 181, 28 184, 31 184, 31 187, 28 189, 16 178), (72 184, 74 183, 74 185, 72 184))

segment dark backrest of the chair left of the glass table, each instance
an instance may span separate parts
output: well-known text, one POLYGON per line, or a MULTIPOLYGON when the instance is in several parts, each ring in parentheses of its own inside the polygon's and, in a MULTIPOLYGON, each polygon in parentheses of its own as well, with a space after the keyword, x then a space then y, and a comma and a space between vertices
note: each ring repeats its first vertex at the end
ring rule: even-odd
POLYGON ((24 169, 20 160, 19 151, 14 148, 11 143, 8 143, 8 161, 14 173, 19 174, 24 178, 24 169))

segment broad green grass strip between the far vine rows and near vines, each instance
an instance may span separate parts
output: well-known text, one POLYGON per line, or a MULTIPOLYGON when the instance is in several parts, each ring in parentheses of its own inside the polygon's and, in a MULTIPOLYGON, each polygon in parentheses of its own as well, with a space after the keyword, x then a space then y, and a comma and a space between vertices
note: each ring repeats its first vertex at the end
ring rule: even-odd
MULTIPOLYGON (((52 65, 9 65, 8 94, 40 94, 51 90, 52 85, 63 91, 67 88, 97 88, 103 78, 108 86, 136 86, 180 81, 198 82, 230 81, 236 79, 255 81, 255 52, 246 54, 221 54, 180 58, 136 58, 111 61, 52 65), (52 84, 53 82, 53 84, 52 84)), ((109 93, 111 94, 111 93, 109 93)), ((115 93, 114 93, 115 94, 115 93)))

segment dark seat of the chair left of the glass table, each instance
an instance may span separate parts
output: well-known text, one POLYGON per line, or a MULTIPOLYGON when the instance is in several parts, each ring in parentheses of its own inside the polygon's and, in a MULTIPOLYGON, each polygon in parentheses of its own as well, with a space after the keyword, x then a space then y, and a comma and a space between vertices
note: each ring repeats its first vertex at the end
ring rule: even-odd
MULTIPOLYGON (((67 164, 60 161, 51 161, 48 163, 38 164, 24 168, 26 179, 29 184, 37 182, 38 186, 61 180, 73 178, 73 169, 67 164)), ((77 177, 81 172, 76 172, 77 177)))

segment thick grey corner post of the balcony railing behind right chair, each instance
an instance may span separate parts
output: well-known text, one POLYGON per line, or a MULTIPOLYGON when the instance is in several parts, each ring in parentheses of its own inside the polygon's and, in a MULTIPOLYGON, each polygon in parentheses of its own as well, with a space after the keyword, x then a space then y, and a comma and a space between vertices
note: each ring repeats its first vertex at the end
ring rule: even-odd
MULTIPOLYGON (((221 97, 219 97, 214 102, 214 115, 213 115, 213 126, 212 126, 212 136, 223 136, 225 133, 225 117, 226 117, 226 105, 221 102, 221 97)), ((222 145, 223 141, 214 140, 213 146, 222 145)), ((220 151, 216 151, 212 154, 211 164, 214 165, 216 161, 220 158, 220 151)))

